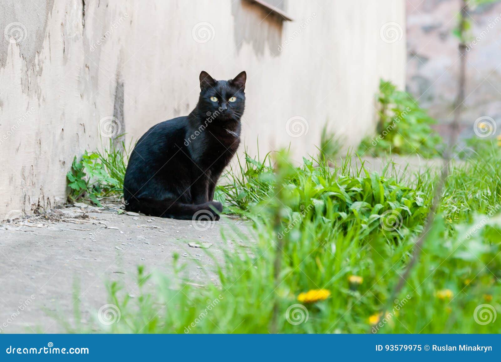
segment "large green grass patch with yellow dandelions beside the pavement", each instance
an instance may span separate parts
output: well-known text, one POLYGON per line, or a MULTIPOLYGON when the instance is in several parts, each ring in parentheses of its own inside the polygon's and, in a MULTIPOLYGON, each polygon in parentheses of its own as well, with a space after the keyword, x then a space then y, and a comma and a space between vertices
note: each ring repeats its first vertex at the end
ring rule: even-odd
MULTIPOLYGON (((227 212, 253 220, 243 242, 252 247, 225 251, 217 264, 219 282, 205 288, 174 286, 140 267, 137 297, 119 283, 109 285, 108 302, 120 309, 120 321, 93 327, 133 333, 501 332, 499 320, 482 325, 474 317, 481 322, 488 311, 501 312, 499 156, 497 148, 482 148, 450 166, 420 259, 394 297, 437 170, 399 177, 391 164, 379 175, 350 161, 329 167, 304 159, 294 167, 283 153, 247 156, 217 195, 227 212), (146 290, 145 280, 155 290, 146 290), (298 301, 311 289, 330 296, 298 301)), ((180 259, 175 257, 179 271, 180 259)))

